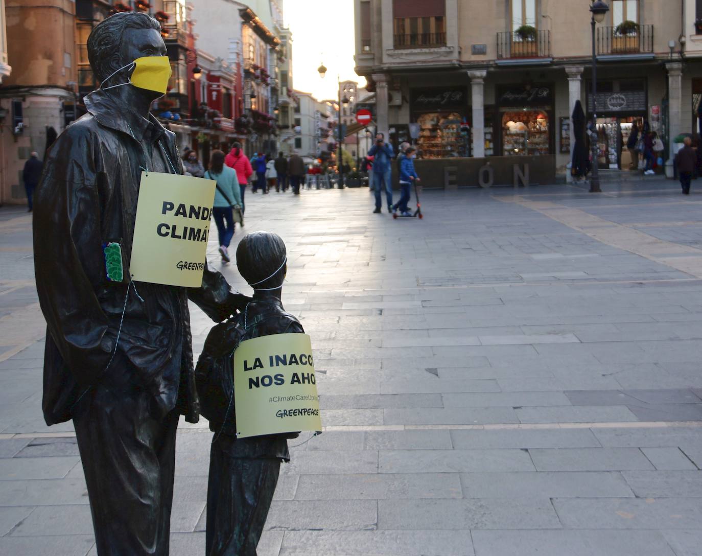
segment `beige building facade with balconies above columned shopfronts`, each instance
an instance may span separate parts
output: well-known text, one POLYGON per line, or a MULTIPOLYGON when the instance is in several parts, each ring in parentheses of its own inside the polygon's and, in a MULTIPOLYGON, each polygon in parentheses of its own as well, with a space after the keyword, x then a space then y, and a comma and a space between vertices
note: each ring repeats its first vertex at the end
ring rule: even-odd
POLYGON ((356 70, 376 93, 378 130, 412 140, 424 159, 527 157, 566 174, 581 100, 588 117, 597 108, 601 168, 630 168, 626 140, 644 121, 670 158, 675 135, 691 131, 696 75, 684 45, 697 14, 683 23, 680 8, 699 3, 608 4, 593 101, 587 2, 355 0, 356 70))

